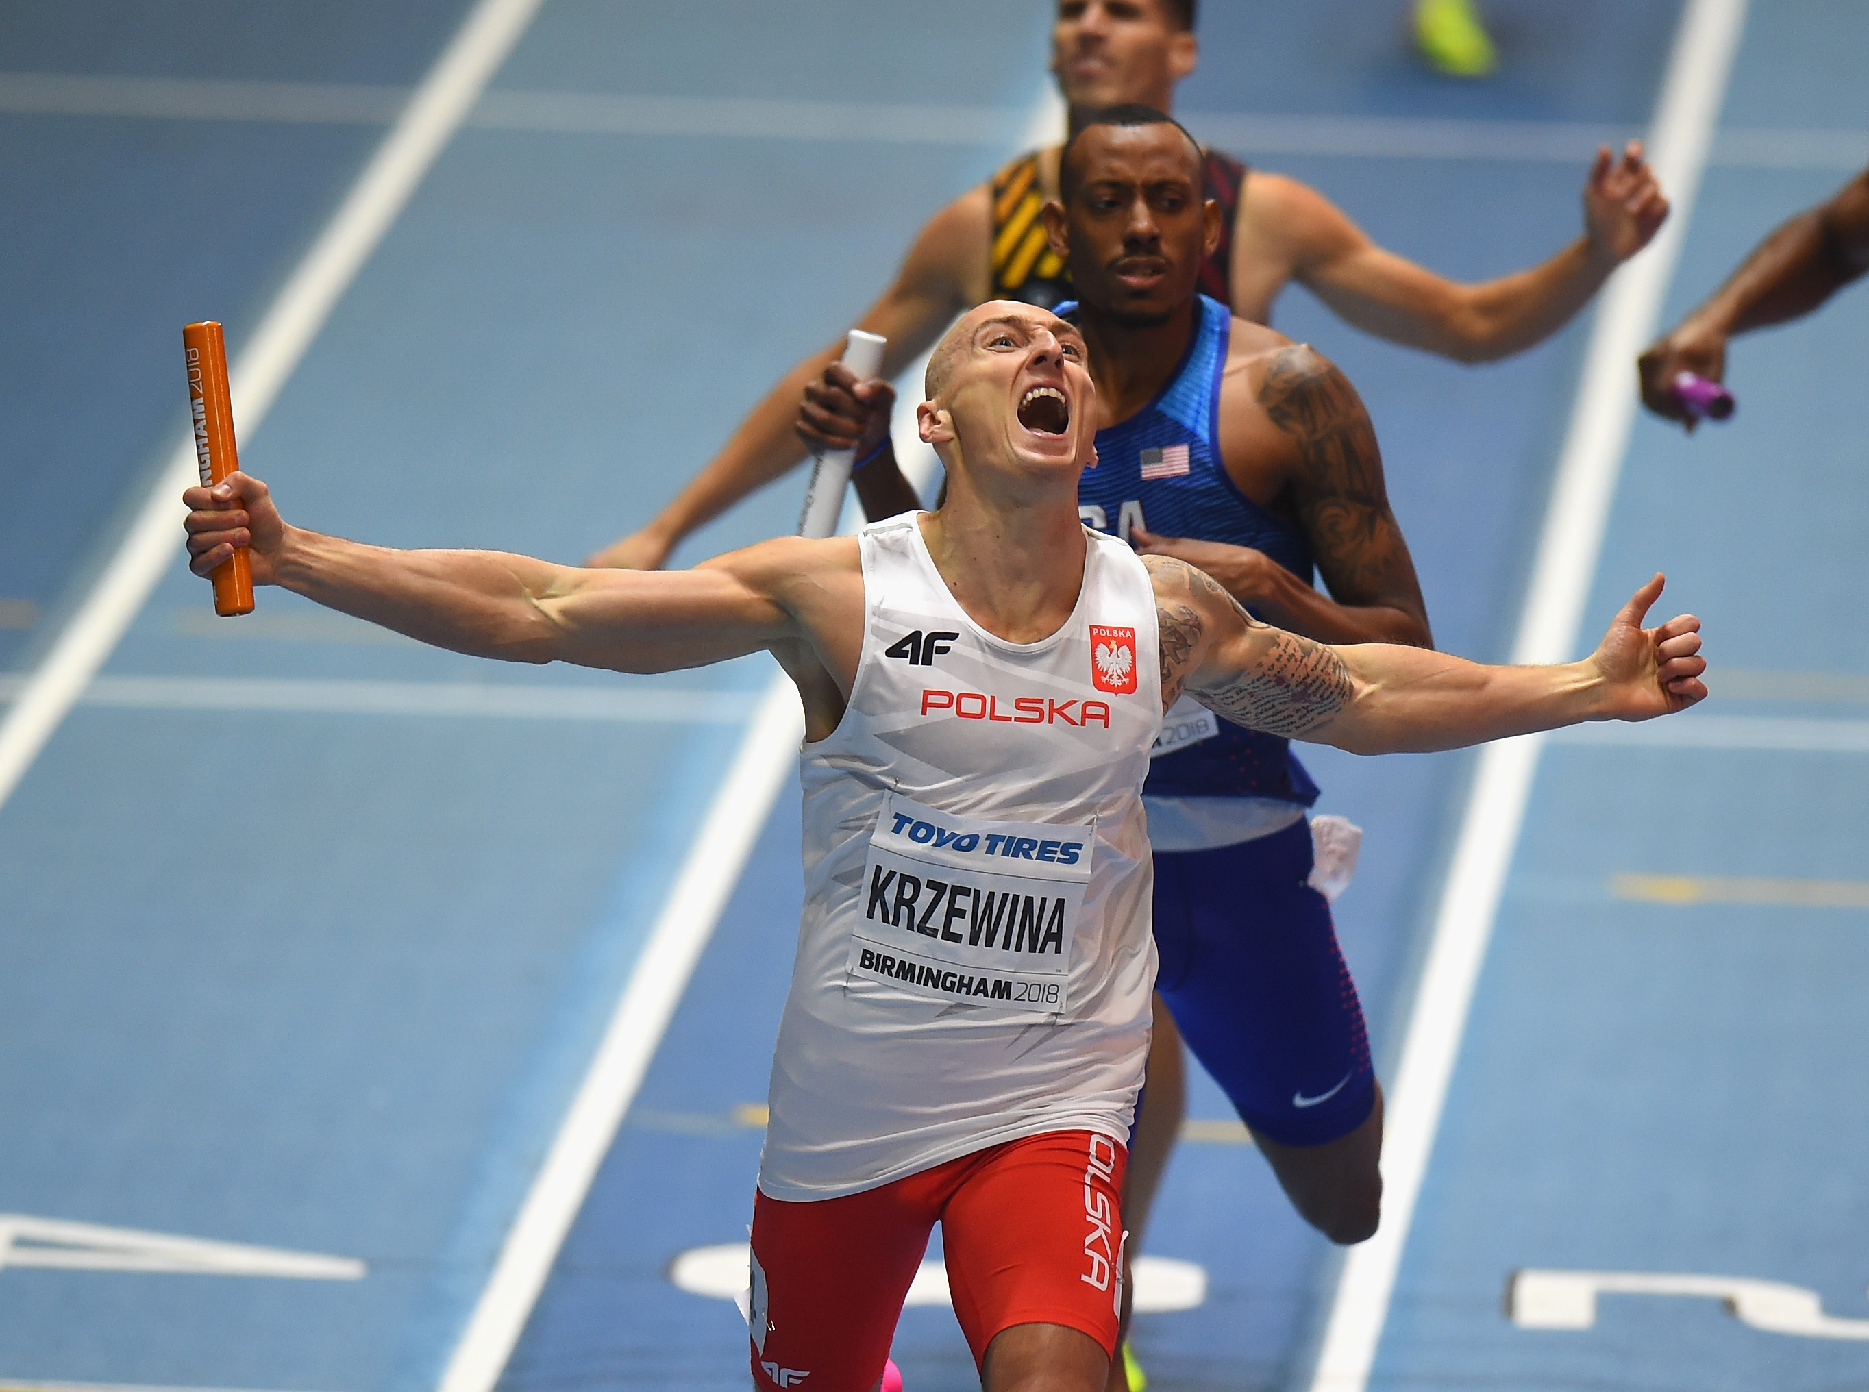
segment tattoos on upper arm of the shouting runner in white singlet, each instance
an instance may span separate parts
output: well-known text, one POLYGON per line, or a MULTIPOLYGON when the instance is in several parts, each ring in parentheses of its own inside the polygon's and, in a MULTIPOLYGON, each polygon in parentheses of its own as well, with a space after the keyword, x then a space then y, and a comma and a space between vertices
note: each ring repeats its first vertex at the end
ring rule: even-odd
POLYGON ((1155 579, 1155 624, 1163 660, 1163 708, 1172 706, 1204 656, 1202 609, 1224 604, 1258 633, 1248 669, 1194 695, 1235 725, 1286 738, 1308 734, 1342 710, 1353 693, 1342 658, 1321 643, 1262 624, 1204 570, 1185 561, 1146 555, 1155 579))

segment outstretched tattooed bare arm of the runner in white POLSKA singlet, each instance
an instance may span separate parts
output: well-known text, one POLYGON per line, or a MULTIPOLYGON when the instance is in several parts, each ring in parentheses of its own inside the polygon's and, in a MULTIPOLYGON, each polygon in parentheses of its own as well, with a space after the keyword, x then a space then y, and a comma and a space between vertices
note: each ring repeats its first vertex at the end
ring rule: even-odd
POLYGON ((1701 620, 1643 628, 1662 577, 1643 585, 1596 652, 1559 667, 1484 667, 1422 648, 1327 646, 1252 618, 1202 572, 1168 557, 1155 577, 1163 703, 1185 689, 1237 725, 1351 753, 1458 749, 1587 719, 1650 719, 1706 695, 1701 620))

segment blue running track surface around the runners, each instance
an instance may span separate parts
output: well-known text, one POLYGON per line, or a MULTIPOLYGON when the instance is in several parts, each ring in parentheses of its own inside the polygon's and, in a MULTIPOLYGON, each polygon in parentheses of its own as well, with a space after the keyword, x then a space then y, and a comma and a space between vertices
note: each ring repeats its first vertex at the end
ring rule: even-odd
MULTIPOLYGON (((1647 125, 1678 22, 1673 0, 1493 0, 1505 69, 1462 86, 1415 67, 1400 0, 1204 9, 1192 129, 1469 278, 1576 235, 1592 142, 1647 125), (1248 120, 1267 116, 1290 120, 1248 120), (1398 131, 1402 153, 1370 144, 1398 131), (1508 138, 1475 157, 1434 131, 1508 138)), ((174 450, 179 325, 224 320, 237 355, 465 13, 0 6, 0 693, 174 450)), ((989 0, 548 0, 245 462, 312 527, 585 555, 1013 151, 1045 30, 1043 6, 989 0), (809 103, 860 107, 858 135, 809 103)), ((1869 157, 1865 52, 1848 0, 1757 0, 1669 314, 1869 157)), ((1589 320, 1486 368, 1361 336, 1303 291, 1277 323, 1368 402, 1441 646, 1501 658, 1589 320)), ((1869 1328, 1865 346, 1858 291, 1740 344, 1731 426, 1637 422, 1585 626, 1665 568, 1734 675, 1688 744, 1546 749, 1372 1388, 1869 1385, 1869 1343, 1716 1300, 1604 1295, 1587 1328, 1503 1310, 1514 1271, 1675 1272, 1807 1287, 1869 1328)), ((757 495, 678 562, 791 531, 798 497, 757 495)), ((277 592, 215 620, 178 538, 0 805, 0 1388, 434 1388, 772 671, 501 669, 277 592), (364 1274, 47 1265, 54 1222, 364 1274)), ((1323 809, 1368 830, 1338 917, 1392 1065, 1473 760, 1310 762, 1323 809)), ((598 1168, 512 1392, 746 1386, 733 1304, 669 1267, 744 1241, 796 796, 598 1168)), ((1204 1078, 1192 1115, 1149 1252, 1202 1267, 1206 1295, 1138 1317, 1151 1386, 1303 1388, 1334 1254, 1204 1078)), ((910 1392, 977 1385, 940 1308, 905 1314, 897 1360, 910 1392)))

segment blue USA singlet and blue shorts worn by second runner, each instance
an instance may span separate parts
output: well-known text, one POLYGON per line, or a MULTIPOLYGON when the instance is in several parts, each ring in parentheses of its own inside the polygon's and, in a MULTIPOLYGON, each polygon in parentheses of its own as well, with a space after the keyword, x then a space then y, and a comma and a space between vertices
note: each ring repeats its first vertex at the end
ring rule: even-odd
MULTIPOLYGON (((1305 536, 1247 497, 1219 458, 1230 327, 1230 310, 1202 295, 1200 327, 1168 385, 1097 432, 1078 516, 1123 540, 1142 527, 1248 546, 1310 585, 1305 536)), ((1331 906, 1306 884, 1318 787, 1286 740, 1192 703, 1174 714, 1185 719, 1166 721, 1144 785, 1157 990, 1247 1125, 1286 1145, 1321 1145, 1363 1125, 1376 1074, 1331 906)))

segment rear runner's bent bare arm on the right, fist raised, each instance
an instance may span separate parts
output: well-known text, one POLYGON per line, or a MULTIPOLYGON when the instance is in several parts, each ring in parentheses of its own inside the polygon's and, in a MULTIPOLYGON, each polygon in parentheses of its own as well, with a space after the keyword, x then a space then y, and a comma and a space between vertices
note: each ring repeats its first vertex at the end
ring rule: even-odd
POLYGON ((1462 284, 1377 247, 1316 189, 1247 178, 1234 228, 1234 312, 1263 323, 1299 280, 1349 323, 1462 362, 1510 357, 1561 329, 1667 217, 1641 144, 1598 149, 1583 185, 1583 235, 1527 271, 1462 284))

